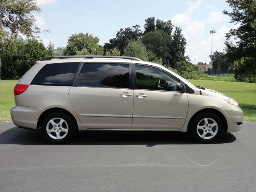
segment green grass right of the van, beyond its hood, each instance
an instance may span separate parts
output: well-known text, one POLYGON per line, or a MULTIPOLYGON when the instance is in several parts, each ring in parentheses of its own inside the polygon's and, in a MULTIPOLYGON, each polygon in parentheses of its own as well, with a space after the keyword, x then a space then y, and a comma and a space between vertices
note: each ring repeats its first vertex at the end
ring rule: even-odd
POLYGON ((238 102, 244 111, 245 121, 256 121, 256 84, 210 80, 189 80, 194 85, 213 89, 226 94, 238 102))

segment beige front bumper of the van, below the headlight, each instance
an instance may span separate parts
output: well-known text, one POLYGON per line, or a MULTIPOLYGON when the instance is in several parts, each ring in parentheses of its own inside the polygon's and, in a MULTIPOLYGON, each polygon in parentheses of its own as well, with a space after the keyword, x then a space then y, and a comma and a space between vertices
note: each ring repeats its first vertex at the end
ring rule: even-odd
POLYGON ((224 114, 227 120, 228 133, 236 132, 242 129, 244 113, 240 107, 227 104, 226 106, 220 108, 219 110, 220 112, 222 112, 222 114, 224 114))

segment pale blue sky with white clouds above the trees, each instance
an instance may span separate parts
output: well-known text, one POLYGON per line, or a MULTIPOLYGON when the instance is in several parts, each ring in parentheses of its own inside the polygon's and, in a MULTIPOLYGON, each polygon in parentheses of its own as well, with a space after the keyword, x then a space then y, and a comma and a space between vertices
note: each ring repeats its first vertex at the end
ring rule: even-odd
POLYGON ((223 51, 225 33, 237 25, 230 23, 230 17, 222 13, 230 10, 224 0, 37 0, 42 12, 34 13, 36 25, 50 30, 40 34, 47 46, 64 47, 68 37, 79 32, 98 36, 100 44, 116 37, 120 28, 135 24, 144 30, 145 19, 171 20, 180 26, 185 36, 186 54, 191 62, 210 62, 212 51, 223 51))

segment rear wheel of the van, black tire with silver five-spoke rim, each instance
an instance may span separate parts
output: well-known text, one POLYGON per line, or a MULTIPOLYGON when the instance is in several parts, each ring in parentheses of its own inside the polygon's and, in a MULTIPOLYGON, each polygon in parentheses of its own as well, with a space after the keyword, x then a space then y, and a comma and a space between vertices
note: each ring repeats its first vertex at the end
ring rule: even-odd
MULTIPOLYGON (((59 123, 60 123, 60 121, 59 121, 59 123)), ((68 115, 56 112, 56 113, 48 114, 42 120, 41 130, 42 130, 42 135, 46 140, 48 140, 49 142, 54 143, 54 144, 62 144, 62 143, 66 143, 66 142, 70 141, 74 137, 74 134, 76 132, 76 126, 75 126, 73 120, 68 115), (56 123, 56 127, 53 126, 52 123, 49 122, 52 119, 54 119, 53 122, 56 123), (58 119, 64 120, 64 122, 60 126, 58 126, 58 119), (49 124, 48 124, 48 122, 49 122, 49 124), (50 130, 52 130, 52 132, 48 134, 47 130, 49 132, 50 132, 50 130), (58 133, 57 133, 57 131, 58 131, 58 133), (58 139, 57 139, 57 134, 59 137, 58 139)))

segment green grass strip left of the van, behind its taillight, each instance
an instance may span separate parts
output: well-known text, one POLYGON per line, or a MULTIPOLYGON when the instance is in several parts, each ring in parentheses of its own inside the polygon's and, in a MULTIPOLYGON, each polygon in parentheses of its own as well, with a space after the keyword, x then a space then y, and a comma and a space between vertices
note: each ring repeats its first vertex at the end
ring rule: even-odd
POLYGON ((0 121, 12 121, 10 109, 15 106, 13 88, 17 80, 0 80, 0 121))

